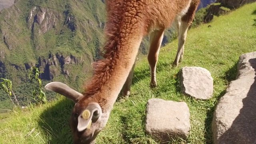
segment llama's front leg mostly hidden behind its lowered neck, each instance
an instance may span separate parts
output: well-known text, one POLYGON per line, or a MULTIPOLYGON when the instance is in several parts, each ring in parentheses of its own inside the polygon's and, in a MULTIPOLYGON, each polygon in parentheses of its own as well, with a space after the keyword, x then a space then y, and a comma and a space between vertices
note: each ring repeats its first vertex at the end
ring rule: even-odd
POLYGON ((134 73, 134 67, 135 67, 135 63, 132 66, 132 69, 126 79, 126 82, 124 83, 124 91, 123 91, 123 96, 125 98, 127 98, 130 95, 130 90, 131 90, 131 85, 132 85, 132 77, 133 77, 133 73, 134 73))

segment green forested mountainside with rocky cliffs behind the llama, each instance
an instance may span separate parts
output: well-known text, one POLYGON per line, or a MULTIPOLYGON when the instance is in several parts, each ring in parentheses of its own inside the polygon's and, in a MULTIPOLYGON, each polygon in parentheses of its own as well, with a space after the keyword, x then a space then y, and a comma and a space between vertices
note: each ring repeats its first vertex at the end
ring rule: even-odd
MULTIPOLYGON (((105 22, 103 0, 15 0, 0 12, 0 78, 12 81, 21 105, 33 101, 38 86, 28 78, 32 66, 44 72, 43 86, 60 81, 80 90, 91 75, 91 63, 100 58, 105 22)), ((166 30, 163 45, 176 36, 173 32, 166 30)), ((147 49, 148 37, 140 46, 141 54, 147 49)), ((0 109, 11 106, 0 91, 0 109)))

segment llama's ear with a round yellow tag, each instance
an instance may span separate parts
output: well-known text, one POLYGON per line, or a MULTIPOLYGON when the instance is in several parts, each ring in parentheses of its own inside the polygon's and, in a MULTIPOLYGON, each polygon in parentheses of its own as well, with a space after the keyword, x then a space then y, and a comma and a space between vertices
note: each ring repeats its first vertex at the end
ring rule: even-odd
POLYGON ((96 122, 101 116, 102 110, 96 102, 90 102, 85 110, 78 116, 77 130, 79 132, 90 129, 92 122, 96 122))

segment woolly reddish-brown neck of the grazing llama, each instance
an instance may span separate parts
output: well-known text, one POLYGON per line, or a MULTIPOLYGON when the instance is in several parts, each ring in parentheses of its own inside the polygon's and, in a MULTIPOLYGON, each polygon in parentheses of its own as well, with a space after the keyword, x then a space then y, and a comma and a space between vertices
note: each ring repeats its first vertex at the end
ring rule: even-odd
POLYGON ((103 60, 96 62, 94 76, 86 86, 86 93, 97 100, 101 106, 112 107, 134 64, 144 27, 141 18, 143 7, 136 0, 131 4, 109 0, 106 34, 108 42, 104 47, 103 60), (138 11, 137 11, 138 10, 138 11))

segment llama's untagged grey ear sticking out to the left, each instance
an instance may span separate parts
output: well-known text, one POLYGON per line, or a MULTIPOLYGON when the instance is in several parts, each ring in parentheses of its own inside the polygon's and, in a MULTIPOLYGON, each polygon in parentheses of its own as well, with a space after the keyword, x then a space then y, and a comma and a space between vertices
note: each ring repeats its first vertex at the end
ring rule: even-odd
POLYGON ((45 88, 46 90, 57 92, 58 94, 66 96, 67 98, 73 100, 75 103, 78 102, 79 98, 83 96, 76 90, 73 90, 72 88, 61 82, 50 82, 49 84, 46 84, 45 88))

